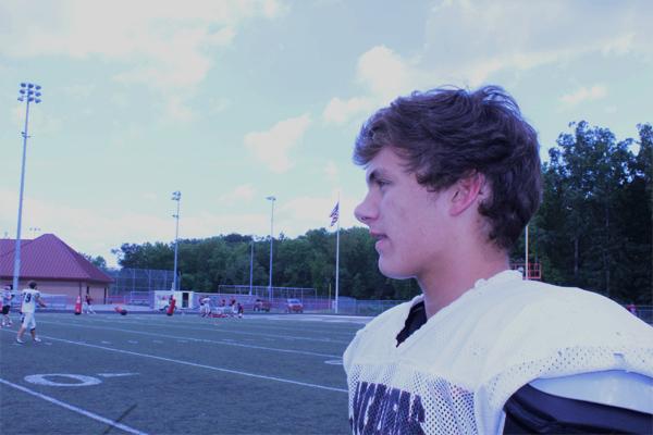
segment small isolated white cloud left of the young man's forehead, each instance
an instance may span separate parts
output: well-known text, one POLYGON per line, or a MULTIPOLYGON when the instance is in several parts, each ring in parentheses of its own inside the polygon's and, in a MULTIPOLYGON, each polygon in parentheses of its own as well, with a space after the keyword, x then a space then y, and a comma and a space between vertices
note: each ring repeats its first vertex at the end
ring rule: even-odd
POLYGON ((289 151, 301 141, 310 123, 308 113, 281 121, 267 132, 252 132, 245 135, 245 146, 271 171, 286 172, 293 166, 289 151))

